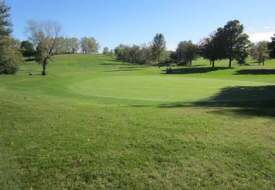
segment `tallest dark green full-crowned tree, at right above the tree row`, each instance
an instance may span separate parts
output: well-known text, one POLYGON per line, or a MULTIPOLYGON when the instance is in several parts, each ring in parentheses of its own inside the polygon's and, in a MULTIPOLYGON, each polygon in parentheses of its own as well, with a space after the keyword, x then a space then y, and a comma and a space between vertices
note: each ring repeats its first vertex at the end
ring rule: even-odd
POLYGON ((229 68, 231 68, 232 60, 248 52, 250 41, 243 30, 244 27, 240 24, 240 21, 233 20, 227 22, 223 28, 219 28, 217 31, 217 34, 223 39, 221 45, 223 53, 221 56, 229 59, 229 68))

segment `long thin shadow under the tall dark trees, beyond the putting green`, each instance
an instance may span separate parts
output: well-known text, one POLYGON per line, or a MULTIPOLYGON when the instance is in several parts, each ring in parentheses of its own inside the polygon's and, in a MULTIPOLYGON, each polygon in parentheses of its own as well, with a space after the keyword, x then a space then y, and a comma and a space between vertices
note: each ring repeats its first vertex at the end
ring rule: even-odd
MULTIPOLYGON (((228 67, 189 67, 189 68, 178 68, 178 69, 173 69, 173 73, 169 74, 195 74, 195 73, 208 73, 212 71, 218 71, 218 70, 226 70, 226 69, 232 69, 228 67)), ((166 70, 163 70, 166 72, 166 70)), ((166 74, 166 73, 165 73, 166 74)))

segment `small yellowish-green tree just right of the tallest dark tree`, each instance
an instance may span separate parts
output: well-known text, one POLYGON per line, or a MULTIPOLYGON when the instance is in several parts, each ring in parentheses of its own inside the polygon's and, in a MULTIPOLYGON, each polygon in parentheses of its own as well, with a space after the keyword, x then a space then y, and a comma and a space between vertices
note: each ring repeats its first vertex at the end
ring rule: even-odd
POLYGON ((250 55, 253 59, 257 60, 259 65, 264 65, 265 60, 269 57, 268 42, 261 41, 253 44, 250 50, 250 55))

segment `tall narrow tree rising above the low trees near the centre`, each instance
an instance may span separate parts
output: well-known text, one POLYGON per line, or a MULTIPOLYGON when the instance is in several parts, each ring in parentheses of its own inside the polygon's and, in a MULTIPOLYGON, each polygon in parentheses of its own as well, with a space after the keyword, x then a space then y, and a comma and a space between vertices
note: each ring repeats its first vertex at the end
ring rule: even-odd
POLYGON ((166 42, 163 34, 156 34, 153 39, 153 55, 157 63, 163 60, 165 54, 166 42))

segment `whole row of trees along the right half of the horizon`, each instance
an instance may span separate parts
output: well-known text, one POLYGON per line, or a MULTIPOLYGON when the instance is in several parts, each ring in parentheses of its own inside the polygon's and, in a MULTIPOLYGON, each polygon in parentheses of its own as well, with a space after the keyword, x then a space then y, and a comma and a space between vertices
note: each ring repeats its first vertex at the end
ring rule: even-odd
POLYGON ((181 41, 175 51, 167 51, 164 36, 156 34, 148 45, 120 44, 114 52, 118 60, 133 64, 192 65, 198 57, 203 57, 209 60, 213 68, 215 61, 228 59, 230 68, 233 60, 243 64, 249 55, 259 64, 264 64, 266 59, 275 58, 274 49, 275 37, 271 43, 267 41, 251 43, 240 21, 232 20, 197 44, 193 44, 192 41, 181 41))

